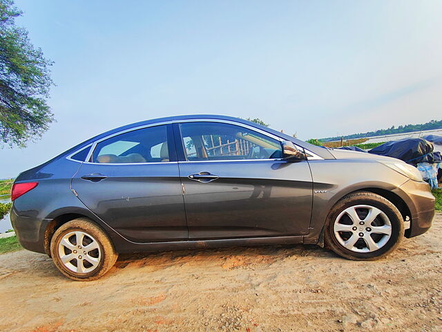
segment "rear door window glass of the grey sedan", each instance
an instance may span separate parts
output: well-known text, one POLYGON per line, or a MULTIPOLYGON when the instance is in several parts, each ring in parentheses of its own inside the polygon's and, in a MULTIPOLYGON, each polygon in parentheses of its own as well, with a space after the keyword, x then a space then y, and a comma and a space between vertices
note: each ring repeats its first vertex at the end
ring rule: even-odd
POLYGON ((93 163, 158 163, 169 161, 166 125, 128 131, 97 143, 93 163))

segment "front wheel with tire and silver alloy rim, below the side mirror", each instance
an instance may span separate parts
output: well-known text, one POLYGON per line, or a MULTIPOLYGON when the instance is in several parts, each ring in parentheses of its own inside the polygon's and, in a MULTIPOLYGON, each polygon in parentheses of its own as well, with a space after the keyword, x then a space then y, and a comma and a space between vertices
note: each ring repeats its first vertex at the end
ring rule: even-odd
POLYGON ((401 212, 383 196, 354 192, 330 210, 325 246, 347 259, 373 261, 397 248, 403 238, 401 212))

